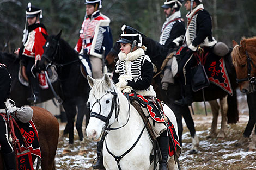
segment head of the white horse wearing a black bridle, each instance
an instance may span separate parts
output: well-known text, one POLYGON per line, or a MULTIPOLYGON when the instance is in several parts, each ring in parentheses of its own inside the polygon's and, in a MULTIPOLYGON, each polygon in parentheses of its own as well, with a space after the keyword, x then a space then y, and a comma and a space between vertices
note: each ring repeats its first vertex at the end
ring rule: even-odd
POLYGON ((93 79, 88 75, 90 91, 90 121, 86 128, 87 136, 94 141, 100 139, 102 132, 107 130, 117 119, 119 113, 118 90, 107 74, 102 79, 93 79))

